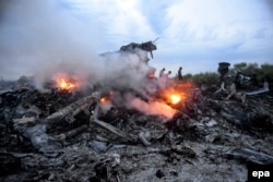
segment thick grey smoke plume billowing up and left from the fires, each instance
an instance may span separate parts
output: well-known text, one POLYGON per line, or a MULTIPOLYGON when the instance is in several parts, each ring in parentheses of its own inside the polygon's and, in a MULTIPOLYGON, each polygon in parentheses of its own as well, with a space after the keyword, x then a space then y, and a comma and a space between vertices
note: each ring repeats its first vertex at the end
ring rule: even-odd
MULTIPOLYGON (((36 87, 41 89, 45 82, 67 75, 82 86, 129 88, 143 96, 149 92, 143 89, 149 71, 142 61, 146 52, 99 56, 97 49, 106 41, 97 34, 102 27, 96 22, 73 15, 60 1, 0 3, 0 73, 4 78, 33 75, 36 87)), ((127 107, 157 113, 141 100, 133 99, 127 107)))

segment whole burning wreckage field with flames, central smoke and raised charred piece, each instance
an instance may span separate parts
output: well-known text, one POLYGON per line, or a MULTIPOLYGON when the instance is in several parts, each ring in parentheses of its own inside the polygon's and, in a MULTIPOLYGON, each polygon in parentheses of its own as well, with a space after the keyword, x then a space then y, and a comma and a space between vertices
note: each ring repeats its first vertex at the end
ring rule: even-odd
POLYGON ((100 54, 126 64, 96 83, 67 69, 41 86, 2 80, 0 181, 246 181, 249 163, 273 163, 272 81, 228 62, 213 84, 156 77, 156 49, 100 54))

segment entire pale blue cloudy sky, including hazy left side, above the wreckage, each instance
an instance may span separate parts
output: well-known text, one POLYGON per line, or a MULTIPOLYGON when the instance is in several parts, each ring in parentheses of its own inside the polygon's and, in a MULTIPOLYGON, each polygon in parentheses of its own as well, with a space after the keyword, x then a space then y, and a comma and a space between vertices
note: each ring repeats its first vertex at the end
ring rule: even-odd
POLYGON ((216 71, 219 61, 273 63, 271 0, 8 1, 0 2, 4 77, 32 75, 72 52, 92 59, 156 37, 150 64, 173 75, 180 65, 198 73, 216 71))

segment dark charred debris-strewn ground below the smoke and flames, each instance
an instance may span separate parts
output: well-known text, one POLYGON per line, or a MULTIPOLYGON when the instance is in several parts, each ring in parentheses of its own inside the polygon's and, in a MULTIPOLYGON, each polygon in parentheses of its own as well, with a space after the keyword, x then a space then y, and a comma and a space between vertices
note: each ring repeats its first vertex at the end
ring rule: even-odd
POLYGON ((189 88, 166 118, 105 111, 98 90, 2 89, 0 181, 246 181, 273 163, 273 93, 214 92, 189 88))

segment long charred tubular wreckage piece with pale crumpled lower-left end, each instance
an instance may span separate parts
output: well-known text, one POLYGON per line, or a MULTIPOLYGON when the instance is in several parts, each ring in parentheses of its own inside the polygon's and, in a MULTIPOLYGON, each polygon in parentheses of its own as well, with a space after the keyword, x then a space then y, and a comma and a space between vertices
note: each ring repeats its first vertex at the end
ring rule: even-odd
POLYGON ((57 112, 48 116, 45 120, 38 122, 34 126, 28 126, 26 129, 19 128, 21 133, 31 141, 33 146, 40 150, 47 151, 60 148, 58 139, 66 139, 69 136, 73 136, 79 132, 86 130, 86 125, 73 129, 70 132, 62 133, 57 136, 57 138, 47 134, 49 129, 54 129, 60 123, 72 123, 75 117, 81 111, 87 109, 94 100, 97 99, 97 93, 93 93, 90 96, 83 97, 69 106, 58 110, 57 112))

